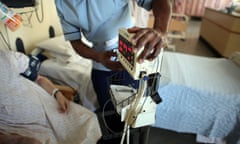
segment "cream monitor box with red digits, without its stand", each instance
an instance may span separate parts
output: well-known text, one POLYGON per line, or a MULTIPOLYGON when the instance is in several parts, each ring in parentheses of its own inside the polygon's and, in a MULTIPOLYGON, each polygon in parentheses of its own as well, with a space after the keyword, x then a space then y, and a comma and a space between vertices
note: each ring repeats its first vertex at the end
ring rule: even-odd
POLYGON ((157 59, 154 61, 144 60, 143 63, 139 64, 137 59, 144 47, 134 53, 135 44, 131 42, 133 36, 134 34, 128 33, 127 29, 119 29, 118 59, 132 78, 136 80, 140 78, 142 72, 145 74, 157 72, 159 62, 157 62, 157 59))

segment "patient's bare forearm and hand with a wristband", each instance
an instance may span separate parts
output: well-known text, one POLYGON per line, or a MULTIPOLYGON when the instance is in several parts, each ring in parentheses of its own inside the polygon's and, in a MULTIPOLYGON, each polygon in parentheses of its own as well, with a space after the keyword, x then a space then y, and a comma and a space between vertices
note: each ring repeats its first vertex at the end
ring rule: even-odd
MULTIPOLYGON (((50 95, 52 95, 53 90, 56 88, 55 85, 46 77, 38 76, 36 82, 44 88, 50 95)), ((56 100, 59 104, 60 112, 68 112, 69 111, 69 100, 64 97, 64 95, 58 91, 56 93, 56 100)))

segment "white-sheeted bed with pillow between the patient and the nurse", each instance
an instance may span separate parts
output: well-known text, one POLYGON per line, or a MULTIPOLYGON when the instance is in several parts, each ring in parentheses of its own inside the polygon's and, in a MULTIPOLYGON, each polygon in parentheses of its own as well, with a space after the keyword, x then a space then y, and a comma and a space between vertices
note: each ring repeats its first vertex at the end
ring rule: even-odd
POLYGON ((37 43, 32 54, 48 57, 41 64, 41 75, 73 88, 77 91, 75 102, 92 111, 97 109, 97 97, 90 80, 92 62, 76 54, 63 35, 37 43))

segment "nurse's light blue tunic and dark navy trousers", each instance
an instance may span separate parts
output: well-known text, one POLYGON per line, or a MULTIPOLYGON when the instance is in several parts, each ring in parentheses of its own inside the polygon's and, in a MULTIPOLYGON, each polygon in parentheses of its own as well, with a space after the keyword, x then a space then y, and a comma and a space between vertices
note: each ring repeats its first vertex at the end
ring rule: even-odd
MULTIPOLYGON (((152 0, 136 0, 150 10, 152 0)), ((133 26, 130 0, 55 0, 66 40, 81 39, 92 42, 96 51, 118 48, 119 28, 133 26)), ((115 72, 93 61, 92 81, 101 107, 109 99, 107 79, 115 72)), ((125 72, 126 73, 126 72, 125 72)), ((128 76, 129 82, 132 81, 128 76)))

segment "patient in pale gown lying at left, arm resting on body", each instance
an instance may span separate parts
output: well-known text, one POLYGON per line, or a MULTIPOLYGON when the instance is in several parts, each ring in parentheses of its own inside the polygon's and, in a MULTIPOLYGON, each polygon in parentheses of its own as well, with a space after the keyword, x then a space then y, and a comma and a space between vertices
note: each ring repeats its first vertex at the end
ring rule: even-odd
POLYGON ((51 82, 46 86, 27 79, 26 69, 31 69, 27 56, 0 49, 0 133, 44 144, 95 144, 101 137, 95 114, 60 92, 54 98, 51 82))

